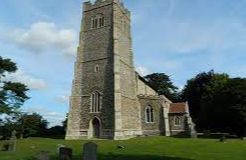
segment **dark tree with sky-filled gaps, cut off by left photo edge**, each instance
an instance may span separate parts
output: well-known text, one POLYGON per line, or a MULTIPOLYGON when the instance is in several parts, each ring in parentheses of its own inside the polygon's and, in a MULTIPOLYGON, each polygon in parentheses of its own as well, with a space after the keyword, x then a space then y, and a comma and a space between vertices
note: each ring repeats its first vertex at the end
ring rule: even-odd
POLYGON ((16 113, 17 109, 29 99, 26 85, 4 81, 6 73, 17 71, 17 66, 10 59, 3 59, 0 56, 0 115, 11 115, 16 113))

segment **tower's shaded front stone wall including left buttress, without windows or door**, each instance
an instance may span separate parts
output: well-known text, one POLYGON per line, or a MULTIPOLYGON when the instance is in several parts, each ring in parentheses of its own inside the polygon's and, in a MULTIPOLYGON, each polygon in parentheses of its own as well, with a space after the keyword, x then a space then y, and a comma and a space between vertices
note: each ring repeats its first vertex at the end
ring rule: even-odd
POLYGON ((88 137, 90 122, 94 117, 101 121, 102 136, 113 136, 114 129, 114 74, 112 1, 84 3, 80 44, 75 63, 73 91, 70 98, 67 137, 88 137), (91 18, 102 14, 105 25, 91 28, 91 18), (98 71, 95 67, 98 67, 98 71), (98 91, 101 113, 90 113, 91 94, 98 91), (105 133, 104 133, 105 131, 105 133), (111 133, 109 133, 111 131, 111 133))

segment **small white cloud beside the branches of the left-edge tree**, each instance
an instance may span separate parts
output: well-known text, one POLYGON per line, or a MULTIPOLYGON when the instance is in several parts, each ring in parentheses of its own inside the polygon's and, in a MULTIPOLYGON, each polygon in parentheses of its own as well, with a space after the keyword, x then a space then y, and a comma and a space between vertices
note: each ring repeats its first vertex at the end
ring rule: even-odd
POLYGON ((6 74, 4 80, 24 83, 28 86, 28 88, 35 90, 41 90, 47 87, 47 84, 43 79, 38 79, 33 76, 30 76, 22 70, 18 70, 15 73, 6 74))

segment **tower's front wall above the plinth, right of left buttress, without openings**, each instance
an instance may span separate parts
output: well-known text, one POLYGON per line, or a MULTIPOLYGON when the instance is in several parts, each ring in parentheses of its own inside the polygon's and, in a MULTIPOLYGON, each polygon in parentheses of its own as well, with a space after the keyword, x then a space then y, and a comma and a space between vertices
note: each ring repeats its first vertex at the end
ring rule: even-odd
POLYGON ((94 116, 101 119, 102 129, 114 129, 112 10, 109 3, 84 12, 82 94, 87 97, 82 105, 82 115, 85 118, 81 127, 84 129, 88 129, 89 121, 94 116), (105 26, 91 29, 91 17, 97 14, 103 14, 105 26), (99 67, 98 72, 95 72, 96 66, 99 67), (90 95, 95 91, 99 91, 102 96, 101 113, 97 114, 88 112, 90 95))

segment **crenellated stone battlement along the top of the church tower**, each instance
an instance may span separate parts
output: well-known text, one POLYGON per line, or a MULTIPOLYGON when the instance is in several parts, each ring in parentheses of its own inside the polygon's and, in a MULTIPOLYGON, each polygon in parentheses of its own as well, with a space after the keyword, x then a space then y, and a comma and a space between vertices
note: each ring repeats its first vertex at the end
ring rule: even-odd
POLYGON ((84 2, 83 11, 87 12, 105 5, 110 5, 112 3, 117 4, 123 10, 123 12, 125 12, 127 15, 130 15, 130 11, 124 6, 121 0, 96 0, 94 3, 91 1, 84 2))

